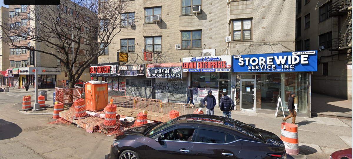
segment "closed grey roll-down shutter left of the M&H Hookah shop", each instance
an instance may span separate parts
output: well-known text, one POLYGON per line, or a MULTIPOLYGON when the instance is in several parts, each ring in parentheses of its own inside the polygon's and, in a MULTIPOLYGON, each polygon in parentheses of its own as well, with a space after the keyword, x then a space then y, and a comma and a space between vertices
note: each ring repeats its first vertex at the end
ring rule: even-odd
POLYGON ((151 79, 126 77, 126 96, 151 98, 151 79))

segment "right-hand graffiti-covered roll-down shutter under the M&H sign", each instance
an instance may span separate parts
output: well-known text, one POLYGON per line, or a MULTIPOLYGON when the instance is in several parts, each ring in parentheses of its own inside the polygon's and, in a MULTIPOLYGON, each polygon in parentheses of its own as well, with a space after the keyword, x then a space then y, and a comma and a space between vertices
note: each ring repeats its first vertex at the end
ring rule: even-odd
POLYGON ((168 78, 168 101, 169 103, 186 102, 186 78, 168 78))

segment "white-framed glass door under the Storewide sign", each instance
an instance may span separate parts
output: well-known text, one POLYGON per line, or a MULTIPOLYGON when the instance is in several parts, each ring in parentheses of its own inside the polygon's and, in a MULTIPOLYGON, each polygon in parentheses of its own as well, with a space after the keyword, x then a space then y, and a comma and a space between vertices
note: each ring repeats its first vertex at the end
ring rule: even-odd
POLYGON ((255 79, 240 80, 240 110, 255 111, 256 82, 255 79))

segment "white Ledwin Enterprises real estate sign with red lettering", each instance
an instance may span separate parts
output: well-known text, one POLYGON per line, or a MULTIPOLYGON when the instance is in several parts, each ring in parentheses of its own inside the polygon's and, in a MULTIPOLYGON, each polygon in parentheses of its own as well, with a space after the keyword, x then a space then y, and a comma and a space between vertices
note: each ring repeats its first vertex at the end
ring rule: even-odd
POLYGON ((183 72, 230 72, 232 56, 183 58, 183 72))

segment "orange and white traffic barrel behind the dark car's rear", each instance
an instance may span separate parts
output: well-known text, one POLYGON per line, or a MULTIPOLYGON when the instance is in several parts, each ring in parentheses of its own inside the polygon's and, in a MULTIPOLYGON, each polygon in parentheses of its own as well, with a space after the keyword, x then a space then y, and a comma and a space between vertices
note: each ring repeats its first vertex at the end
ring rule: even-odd
POLYGON ((292 123, 282 122, 281 140, 285 144, 286 153, 299 154, 298 126, 292 123))

